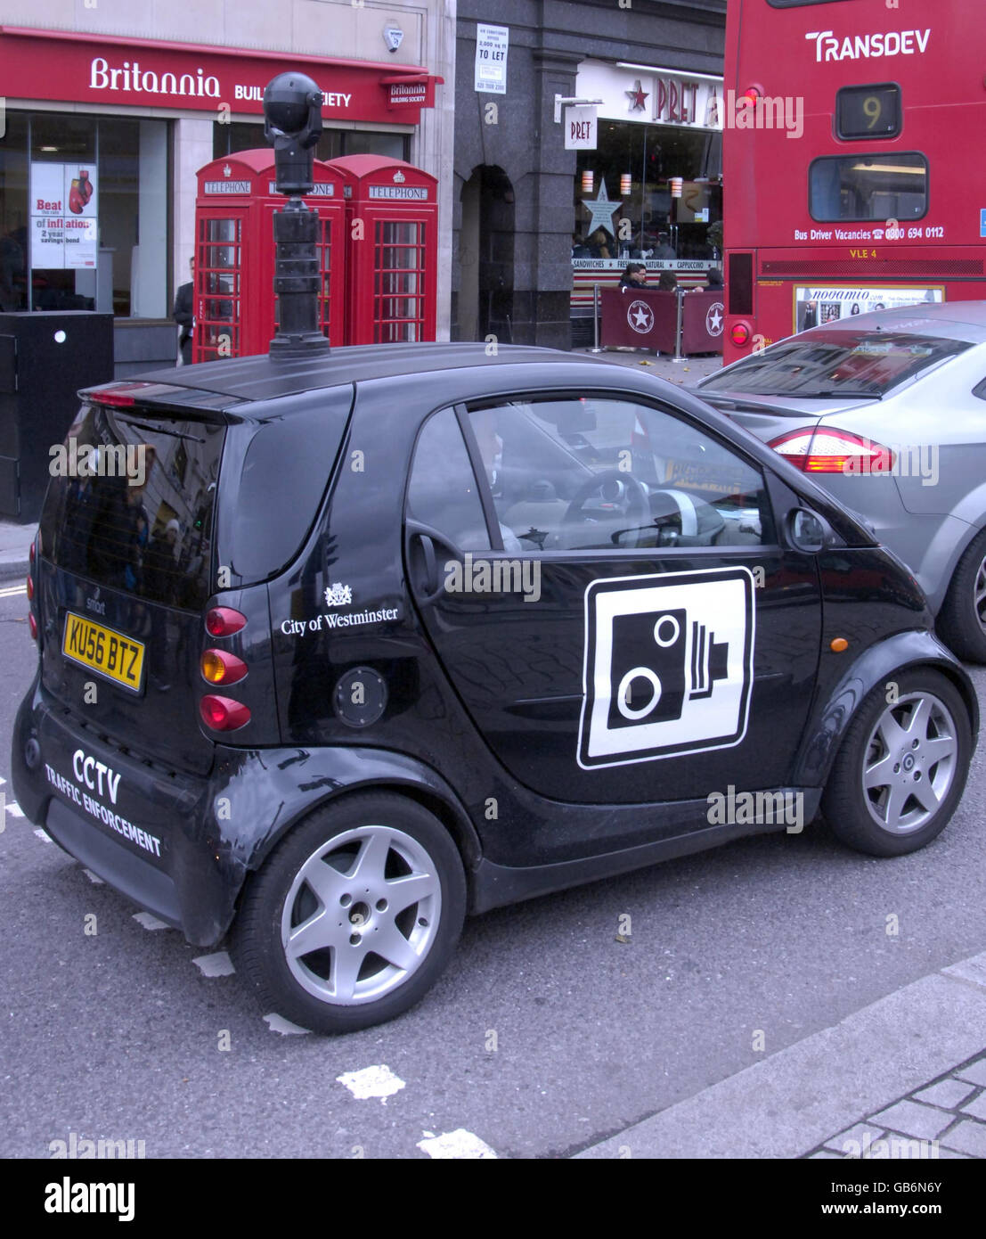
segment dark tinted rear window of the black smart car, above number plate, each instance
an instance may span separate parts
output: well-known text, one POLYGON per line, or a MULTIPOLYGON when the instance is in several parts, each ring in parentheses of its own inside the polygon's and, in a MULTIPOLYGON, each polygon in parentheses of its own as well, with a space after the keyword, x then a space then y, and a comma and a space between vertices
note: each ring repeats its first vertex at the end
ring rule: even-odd
POLYGON ((150 408, 85 404, 52 447, 45 556, 149 602, 198 610, 211 589, 225 427, 150 408))

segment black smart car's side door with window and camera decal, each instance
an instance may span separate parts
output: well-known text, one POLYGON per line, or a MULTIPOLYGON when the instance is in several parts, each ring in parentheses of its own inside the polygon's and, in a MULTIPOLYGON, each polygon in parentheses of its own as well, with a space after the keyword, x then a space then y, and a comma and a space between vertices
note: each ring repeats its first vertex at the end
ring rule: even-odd
POLYGON ((437 655, 520 783, 611 804, 787 783, 819 579, 733 445, 624 394, 447 408, 405 520, 437 655))

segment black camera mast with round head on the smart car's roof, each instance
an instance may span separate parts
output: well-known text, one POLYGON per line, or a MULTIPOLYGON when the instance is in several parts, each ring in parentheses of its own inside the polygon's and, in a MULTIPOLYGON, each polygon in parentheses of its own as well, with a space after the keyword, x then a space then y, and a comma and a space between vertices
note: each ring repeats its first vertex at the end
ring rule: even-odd
POLYGON ((274 147, 277 192, 287 196, 274 212, 279 306, 271 357, 328 352, 318 327, 318 213, 302 198, 311 193, 313 147, 322 134, 322 92, 305 73, 279 73, 264 90, 264 136, 274 147))

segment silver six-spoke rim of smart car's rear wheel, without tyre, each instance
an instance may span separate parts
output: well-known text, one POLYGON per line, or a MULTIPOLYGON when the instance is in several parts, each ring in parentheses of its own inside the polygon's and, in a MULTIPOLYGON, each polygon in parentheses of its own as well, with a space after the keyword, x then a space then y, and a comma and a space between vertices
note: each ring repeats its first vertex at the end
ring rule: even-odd
POLYGON ((373 1002, 424 963, 441 919, 426 849, 391 826, 346 830, 297 871, 281 913, 291 975, 322 1002, 373 1002))

